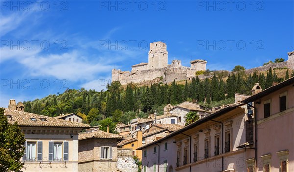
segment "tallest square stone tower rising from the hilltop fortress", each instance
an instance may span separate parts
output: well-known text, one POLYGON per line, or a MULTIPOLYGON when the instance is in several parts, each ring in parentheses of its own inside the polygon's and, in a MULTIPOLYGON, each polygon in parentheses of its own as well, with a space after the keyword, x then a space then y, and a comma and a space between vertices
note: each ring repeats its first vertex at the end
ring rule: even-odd
POLYGON ((161 41, 150 43, 148 69, 160 69, 168 66, 167 45, 161 41))

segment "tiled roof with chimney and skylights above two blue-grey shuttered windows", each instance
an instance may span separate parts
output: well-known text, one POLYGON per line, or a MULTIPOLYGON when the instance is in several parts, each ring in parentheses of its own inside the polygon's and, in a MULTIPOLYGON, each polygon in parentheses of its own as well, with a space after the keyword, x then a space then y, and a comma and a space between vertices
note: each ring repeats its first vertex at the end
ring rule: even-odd
POLYGON ((19 126, 90 128, 90 125, 88 124, 71 122, 63 119, 57 119, 18 110, 9 110, 8 108, 5 108, 4 115, 11 116, 11 119, 8 119, 9 123, 17 122, 19 126))

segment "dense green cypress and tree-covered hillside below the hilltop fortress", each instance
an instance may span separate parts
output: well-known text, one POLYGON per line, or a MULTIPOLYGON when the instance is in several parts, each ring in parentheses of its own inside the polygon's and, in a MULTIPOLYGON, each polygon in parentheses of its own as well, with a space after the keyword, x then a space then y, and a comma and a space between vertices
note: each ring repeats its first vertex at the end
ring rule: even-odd
MULTIPOLYGON (((285 78, 289 78, 288 71, 285 78)), ((130 83, 123 88, 120 82, 115 81, 107 86, 105 92, 67 89, 62 94, 24 104, 27 112, 51 117, 75 112, 84 116, 84 122, 91 125, 101 124, 107 118, 112 122, 129 123, 136 116, 147 117, 147 114, 154 112, 163 114, 163 107, 168 103, 176 105, 189 100, 210 108, 232 103, 236 92, 250 95, 255 83, 266 89, 283 80, 270 68, 266 75, 254 72, 246 76, 244 71, 215 72, 211 78, 200 80, 196 76, 190 82, 186 81, 185 85, 174 81, 171 85, 160 83, 137 87, 130 83)))

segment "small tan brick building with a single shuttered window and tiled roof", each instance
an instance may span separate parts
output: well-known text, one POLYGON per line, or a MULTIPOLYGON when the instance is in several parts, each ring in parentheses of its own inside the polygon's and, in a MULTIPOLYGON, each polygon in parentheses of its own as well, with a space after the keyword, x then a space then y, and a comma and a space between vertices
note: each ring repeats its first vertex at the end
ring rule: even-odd
POLYGON ((78 136, 79 172, 117 172, 117 142, 122 136, 101 130, 78 136))

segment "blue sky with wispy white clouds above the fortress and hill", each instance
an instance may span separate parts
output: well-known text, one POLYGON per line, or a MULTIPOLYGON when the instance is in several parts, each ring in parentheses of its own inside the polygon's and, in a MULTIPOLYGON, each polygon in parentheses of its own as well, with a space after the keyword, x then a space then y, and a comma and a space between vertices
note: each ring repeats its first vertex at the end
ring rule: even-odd
POLYGON ((0 1, 0 107, 65 88, 101 90, 111 69, 147 62, 253 68, 294 50, 294 1, 0 1))

